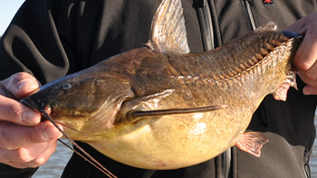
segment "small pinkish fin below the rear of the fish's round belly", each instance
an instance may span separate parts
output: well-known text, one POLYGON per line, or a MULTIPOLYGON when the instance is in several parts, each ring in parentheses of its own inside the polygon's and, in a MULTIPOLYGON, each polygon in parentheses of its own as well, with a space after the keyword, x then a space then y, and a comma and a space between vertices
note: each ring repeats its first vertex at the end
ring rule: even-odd
POLYGON ((238 138, 235 145, 248 154, 260 157, 261 148, 268 141, 262 132, 246 132, 238 138))

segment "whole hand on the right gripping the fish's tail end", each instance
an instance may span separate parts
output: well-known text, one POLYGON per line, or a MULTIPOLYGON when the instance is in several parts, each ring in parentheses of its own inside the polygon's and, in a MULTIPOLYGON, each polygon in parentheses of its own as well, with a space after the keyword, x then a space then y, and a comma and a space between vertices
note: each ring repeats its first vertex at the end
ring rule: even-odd
POLYGON ((288 27, 288 31, 303 34, 293 58, 293 65, 298 75, 307 85, 303 88, 305 95, 317 95, 317 12, 303 17, 288 27))

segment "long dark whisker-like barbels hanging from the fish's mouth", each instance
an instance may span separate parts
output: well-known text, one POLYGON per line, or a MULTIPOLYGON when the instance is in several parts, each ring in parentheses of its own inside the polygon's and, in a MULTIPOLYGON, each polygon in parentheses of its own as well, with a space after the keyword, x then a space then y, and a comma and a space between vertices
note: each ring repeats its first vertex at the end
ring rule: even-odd
POLYGON ((86 155, 89 159, 87 159, 84 155, 82 155, 81 153, 79 153, 78 151, 76 151, 75 149, 73 149, 70 145, 65 144, 64 142, 62 142, 61 139, 58 139, 62 145, 66 145, 68 148, 70 148, 75 154, 80 155, 85 161, 87 161, 88 163, 92 164, 94 167, 96 167, 97 169, 99 169, 102 173, 106 174, 108 177, 110 178, 117 178, 117 176, 115 176, 113 173, 111 173, 108 169, 106 169, 103 165, 101 165, 96 159, 94 159, 91 155, 89 155, 86 151, 84 151, 82 149, 82 147, 80 145, 77 145, 77 143, 75 143, 72 138, 70 138, 69 136, 67 136, 63 131, 62 128, 60 128, 60 126, 57 126, 57 124, 53 121, 52 117, 50 117, 50 115, 45 111, 45 110, 41 110, 40 112, 43 113, 43 115, 52 122, 53 126, 56 126, 56 128, 62 133, 62 136, 64 136, 68 141, 70 141, 72 143, 72 145, 76 146, 81 152, 82 154, 86 155))

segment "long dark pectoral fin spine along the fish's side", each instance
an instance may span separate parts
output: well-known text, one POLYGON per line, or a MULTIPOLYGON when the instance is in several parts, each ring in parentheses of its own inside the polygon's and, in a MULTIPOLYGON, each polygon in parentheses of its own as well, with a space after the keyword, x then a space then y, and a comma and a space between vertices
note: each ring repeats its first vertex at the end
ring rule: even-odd
POLYGON ((209 112, 219 108, 227 108, 226 105, 210 106, 201 108, 170 108, 159 110, 147 110, 147 111, 130 111, 130 117, 152 117, 152 116, 166 116, 177 114, 190 114, 197 112, 209 112))

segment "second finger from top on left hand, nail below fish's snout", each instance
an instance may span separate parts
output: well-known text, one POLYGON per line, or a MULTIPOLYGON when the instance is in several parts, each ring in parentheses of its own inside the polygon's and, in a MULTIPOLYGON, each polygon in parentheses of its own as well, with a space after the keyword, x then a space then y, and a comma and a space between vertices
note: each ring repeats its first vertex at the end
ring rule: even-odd
POLYGON ((19 101, 0 95, 0 120, 24 126, 35 126, 41 121, 41 115, 19 101))

